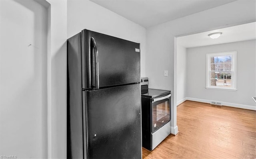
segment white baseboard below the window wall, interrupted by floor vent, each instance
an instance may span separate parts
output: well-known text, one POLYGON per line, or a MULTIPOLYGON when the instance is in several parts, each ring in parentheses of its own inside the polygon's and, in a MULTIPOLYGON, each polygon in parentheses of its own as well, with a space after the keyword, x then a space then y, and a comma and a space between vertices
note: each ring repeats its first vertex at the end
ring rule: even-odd
MULTIPOLYGON (((190 97, 186 97, 186 100, 209 103, 209 104, 211 101, 211 100, 206 100, 206 99, 198 99, 198 98, 190 98, 190 97)), ((222 102, 222 101, 218 101, 218 102, 221 102, 223 106, 230 106, 230 107, 234 107, 234 108, 242 108, 242 109, 248 109, 248 110, 256 110, 256 106, 248 106, 248 105, 244 105, 244 104, 235 104, 235 103, 228 103, 228 102, 222 102)))

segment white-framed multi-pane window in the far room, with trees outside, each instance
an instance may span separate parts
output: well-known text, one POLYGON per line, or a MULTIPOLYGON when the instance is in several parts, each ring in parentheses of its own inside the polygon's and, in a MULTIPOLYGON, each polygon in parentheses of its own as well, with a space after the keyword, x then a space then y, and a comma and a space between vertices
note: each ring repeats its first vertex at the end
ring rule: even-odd
POLYGON ((236 90, 236 51, 206 54, 206 88, 236 90))

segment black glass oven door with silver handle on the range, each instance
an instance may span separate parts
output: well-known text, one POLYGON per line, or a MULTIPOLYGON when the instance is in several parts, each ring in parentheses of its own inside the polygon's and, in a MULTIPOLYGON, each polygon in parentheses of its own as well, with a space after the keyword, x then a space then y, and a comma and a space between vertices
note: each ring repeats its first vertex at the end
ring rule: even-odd
POLYGON ((152 133, 170 121, 170 103, 171 94, 152 99, 152 133))

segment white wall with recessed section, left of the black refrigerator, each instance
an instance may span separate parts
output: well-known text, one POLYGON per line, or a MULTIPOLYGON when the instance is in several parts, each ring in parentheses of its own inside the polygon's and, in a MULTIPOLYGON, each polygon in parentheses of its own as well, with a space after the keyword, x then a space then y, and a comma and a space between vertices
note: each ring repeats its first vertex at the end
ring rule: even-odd
POLYGON ((0 2, 0 155, 66 158, 67 2, 0 2))

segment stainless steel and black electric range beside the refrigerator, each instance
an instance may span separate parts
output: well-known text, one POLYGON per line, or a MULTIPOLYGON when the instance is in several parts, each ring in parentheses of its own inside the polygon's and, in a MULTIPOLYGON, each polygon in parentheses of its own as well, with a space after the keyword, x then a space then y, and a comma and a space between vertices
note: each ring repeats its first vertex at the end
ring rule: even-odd
POLYGON ((171 133, 171 91, 148 88, 141 78, 142 147, 152 151, 171 133))

